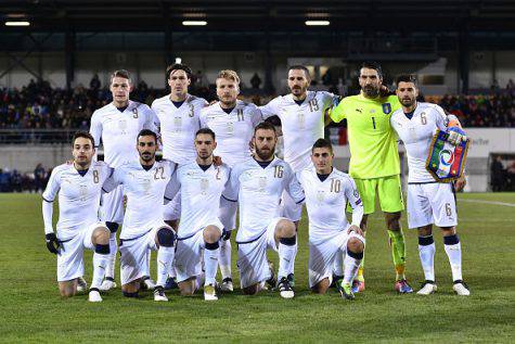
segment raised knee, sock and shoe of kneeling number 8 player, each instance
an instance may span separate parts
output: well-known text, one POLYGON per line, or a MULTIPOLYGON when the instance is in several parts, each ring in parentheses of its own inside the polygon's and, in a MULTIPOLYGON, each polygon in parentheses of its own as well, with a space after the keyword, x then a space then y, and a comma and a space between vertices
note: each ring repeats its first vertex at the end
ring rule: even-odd
POLYGON ((93 230, 91 242, 94 245, 93 253, 93 279, 89 289, 88 300, 90 302, 101 302, 100 288, 105 277, 105 270, 110 264, 110 237, 111 231, 106 227, 99 227, 93 230))

